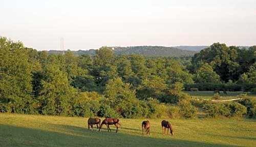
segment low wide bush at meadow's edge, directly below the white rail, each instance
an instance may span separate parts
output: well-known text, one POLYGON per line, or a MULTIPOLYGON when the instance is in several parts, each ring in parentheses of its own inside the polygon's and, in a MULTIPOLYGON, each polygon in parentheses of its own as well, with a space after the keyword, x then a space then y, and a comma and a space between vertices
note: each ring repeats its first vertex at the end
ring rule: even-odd
POLYGON ((203 110, 207 113, 209 117, 218 117, 218 116, 229 116, 230 110, 223 103, 214 103, 208 102, 203 106, 203 110))

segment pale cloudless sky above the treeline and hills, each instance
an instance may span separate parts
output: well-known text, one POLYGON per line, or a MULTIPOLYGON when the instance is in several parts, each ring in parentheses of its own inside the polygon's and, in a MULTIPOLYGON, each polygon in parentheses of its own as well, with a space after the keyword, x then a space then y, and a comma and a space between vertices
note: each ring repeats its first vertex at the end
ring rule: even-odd
POLYGON ((256 45, 256 0, 0 0, 0 36, 37 50, 256 45))

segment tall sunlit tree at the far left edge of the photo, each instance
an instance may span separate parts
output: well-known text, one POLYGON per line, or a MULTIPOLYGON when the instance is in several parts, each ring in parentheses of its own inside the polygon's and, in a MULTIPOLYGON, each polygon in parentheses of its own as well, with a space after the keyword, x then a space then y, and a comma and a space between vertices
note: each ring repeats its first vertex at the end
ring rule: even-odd
POLYGON ((29 50, 22 42, 0 37, 0 107, 6 112, 33 113, 29 50))

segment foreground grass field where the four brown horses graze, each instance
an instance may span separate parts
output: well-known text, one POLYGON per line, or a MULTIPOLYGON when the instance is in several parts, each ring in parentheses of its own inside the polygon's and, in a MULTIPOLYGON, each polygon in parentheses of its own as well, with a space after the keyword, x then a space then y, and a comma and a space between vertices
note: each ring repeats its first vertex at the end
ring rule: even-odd
MULTIPOLYGON (((255 146, 256 120, 168 120, 175 135, 161 133, 161 120, 150 120, 151 135, 142 136, 145 119, 120 119, 118 133, 87 129, 87 118, 0 113, 0 146, 255 146)), ((96 128, 96 127, 94 127, 96 128)))

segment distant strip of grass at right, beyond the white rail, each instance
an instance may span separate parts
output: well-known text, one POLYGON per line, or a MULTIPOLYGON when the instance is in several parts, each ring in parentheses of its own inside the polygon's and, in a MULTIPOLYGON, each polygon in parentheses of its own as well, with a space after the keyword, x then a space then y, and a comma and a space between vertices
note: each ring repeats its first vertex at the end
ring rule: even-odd
MULTIPOLYGON (((196 98, 203 98, 203 99, 210 99, 214 96, 213 91, 186 91, 190 96, 196 98)), ((222 91, 220 92, 220 100, 229 100, 229 99, 236 99, 240 94, 247 94, 249 98, 256 99, 256 95, 245 93, 245 92, 227 92, 224 94, 222 91)))

